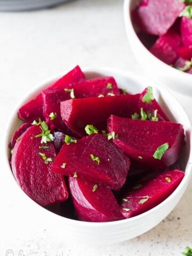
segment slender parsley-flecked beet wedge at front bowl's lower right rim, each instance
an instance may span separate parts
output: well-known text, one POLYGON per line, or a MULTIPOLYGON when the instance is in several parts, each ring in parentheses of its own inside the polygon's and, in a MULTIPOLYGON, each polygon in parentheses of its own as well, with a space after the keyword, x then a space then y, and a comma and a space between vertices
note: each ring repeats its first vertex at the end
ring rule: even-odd
POLYGON ((172 194, 184 175, 178 170, 167 171, 146 182, 139 182, 123 196, 122 214, 130 218, 152 209, 172 194))

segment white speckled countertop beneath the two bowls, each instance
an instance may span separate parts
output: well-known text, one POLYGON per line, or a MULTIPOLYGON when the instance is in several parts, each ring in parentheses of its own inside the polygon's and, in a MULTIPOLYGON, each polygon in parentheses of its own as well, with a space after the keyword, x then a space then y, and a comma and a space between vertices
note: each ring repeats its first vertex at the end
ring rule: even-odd
MULTIPOLYGON (((142 73, 127 42, 123 1, 77 0, 47 10, 0 13, 0 38, 1 138, 10 113, 47 77, 76 65, 142 73)), ((191 98, 172 93, 192 119, 191 98)), ((1 143, 1 156, 3 150, 1 143)), ((1 256, 179 256, 186 246, 192 247, 192 180, 177 207, 146 234, 119 244, 79 245, 46 229, 19 228, 25 206, 7 187, 4 159, 1 162, 1 256)))

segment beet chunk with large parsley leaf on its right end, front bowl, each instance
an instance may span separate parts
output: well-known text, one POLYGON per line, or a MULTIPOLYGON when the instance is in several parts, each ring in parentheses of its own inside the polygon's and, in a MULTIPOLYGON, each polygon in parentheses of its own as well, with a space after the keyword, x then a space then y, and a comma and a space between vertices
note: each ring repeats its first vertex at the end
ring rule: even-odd
POLYGON ((181 124, 172 122, 142 121, 111 116, 108 131, 118 134, 116 145, 132 159, 132 164, 142 169, 165 169, 175 163, 184 144, 181 124), (153 157, 156 149, 169 143, 161 159, 153 157))

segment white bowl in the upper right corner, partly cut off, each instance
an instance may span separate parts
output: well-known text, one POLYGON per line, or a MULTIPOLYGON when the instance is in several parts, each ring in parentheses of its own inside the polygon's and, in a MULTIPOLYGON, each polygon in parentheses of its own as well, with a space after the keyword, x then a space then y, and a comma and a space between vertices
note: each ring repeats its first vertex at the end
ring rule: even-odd
POLYGON ((175 69, 151 54, 141 43, 131 21, 131 11, 136 6, 135 0, 124 0, 124 22, 128 41, 135 58, 143 70, 167 88, 183 94, 192 95, 192 75, 175 69))

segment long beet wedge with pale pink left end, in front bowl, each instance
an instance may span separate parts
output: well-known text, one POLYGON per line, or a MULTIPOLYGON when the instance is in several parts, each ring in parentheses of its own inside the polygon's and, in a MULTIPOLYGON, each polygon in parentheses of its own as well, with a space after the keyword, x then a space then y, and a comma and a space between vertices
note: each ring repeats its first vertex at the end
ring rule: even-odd
POLYGON ((139 97, 140 94, 126 94, 62 101, 61 118, 71 130, 79 135, 85 135, 87 124, 105 130, 110 115, 131 117, 132 114, 140 111, 139 97))

